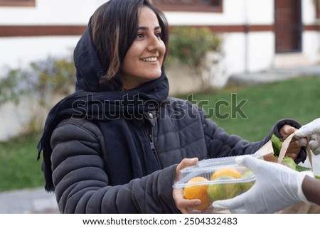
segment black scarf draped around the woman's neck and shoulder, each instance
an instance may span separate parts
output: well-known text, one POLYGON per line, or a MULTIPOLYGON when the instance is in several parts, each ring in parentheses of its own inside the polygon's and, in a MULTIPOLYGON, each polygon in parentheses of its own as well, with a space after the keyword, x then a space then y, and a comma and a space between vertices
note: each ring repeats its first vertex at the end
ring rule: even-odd
POLYGON ((127 92, 75 92, 62 99, 50 110, 43 136, 38 143, 38 160, 43 151, 43 173, 46 190, 53 191, 50 156, 51 134, 66 118, 88 119, 101 129, 107 148, 106 168, 110 184, 128 183, 132 178, 158 170, 159 164, 150 153, 149 144, 141 137, 147 112, 154 112, 164 104, 168 95, 168 81, 164 73, 157 80, 147 82, 137 90, 127 92), (134 121, 128 120, 133 119, 134 121), (140 121, 139 121, 140 120, 140 121), (110 139, 110 137, 112 137, 110 139), (128 153, 129 151, 129 153, 128 153))

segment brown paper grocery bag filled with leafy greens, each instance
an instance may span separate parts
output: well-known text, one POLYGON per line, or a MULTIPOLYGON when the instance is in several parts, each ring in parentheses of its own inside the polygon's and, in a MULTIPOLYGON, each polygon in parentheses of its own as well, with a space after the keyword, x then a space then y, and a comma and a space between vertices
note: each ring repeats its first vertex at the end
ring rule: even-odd
MULTIPOLYGON (((287 153, 287 149, 289 148, 289 143, 292 141, 294 134, 291 134, 284 142, 282 143, 282 147, 279 153, 279 157, 274 158, 273 156, 273 148, 272 148, 272 142, 271 140, 265 143, 262 148, 260 148, 256 154, 259 154, 260 156, 263 157, 265 161, 270 161, 270 162, 277 162, 277 163, 282 163, 283 158, 285 154, 287 153)), ((307 158, 309 158, 309 162, 311 165, 311 170, 313 170, 312 167, 312 156, 311 156, 311 150, 309 146, 309 141, 306 144, 306 153, 307 153, 307 158)), ((276 212, 277 214, 320 214, 320 206, 315 205, 313 203, 308 203, 304 201, 297 202, 294 205, 291 205, 289 207, 286 207, 284 210, 281 210, 279 212, 276 212)))

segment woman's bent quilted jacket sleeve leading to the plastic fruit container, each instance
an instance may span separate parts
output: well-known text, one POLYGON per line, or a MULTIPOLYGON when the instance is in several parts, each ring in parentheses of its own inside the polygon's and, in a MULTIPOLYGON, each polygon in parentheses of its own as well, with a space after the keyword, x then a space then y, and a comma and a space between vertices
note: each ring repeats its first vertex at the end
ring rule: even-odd
POLYGON ((125 185, 108 185, 97 127, 65 122, 53 132, 53 183, 62 213, 178 213, 172 197, 176 165, 125 185))

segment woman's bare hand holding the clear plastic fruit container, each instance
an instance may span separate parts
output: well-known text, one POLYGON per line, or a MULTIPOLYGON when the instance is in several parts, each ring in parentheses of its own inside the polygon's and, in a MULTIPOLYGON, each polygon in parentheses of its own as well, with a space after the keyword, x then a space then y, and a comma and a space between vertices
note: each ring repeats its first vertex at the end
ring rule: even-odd
MULTIPOLYGON (((181 163, 176 167, 176 177, 174 181, 178 181, 180 179, 180 170, 186 168, 191 165, 196 165, 198 162, 198 158, 184 158, 181 163)), ((174 202, 176 203, 176 207, 183 214, 188 214, 188 208, 196 207, 201 204, 201 200, 186 200, 183 197, 183 189, 182 188, 174 188, 173 191, 174 202)))

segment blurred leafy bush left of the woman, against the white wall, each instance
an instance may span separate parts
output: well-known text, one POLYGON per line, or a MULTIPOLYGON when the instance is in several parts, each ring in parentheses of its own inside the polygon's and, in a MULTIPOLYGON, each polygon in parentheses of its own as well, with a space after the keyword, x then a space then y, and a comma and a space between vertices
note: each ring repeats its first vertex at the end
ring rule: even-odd
POLYGON ((0 106, 6 102, 20 102, 22 97, 36 94, 46 105, 52 94, 69 94, 75 84, 75 66, 72 56, 30 63, 25 69, 9 69, 0 79, 0 106))

